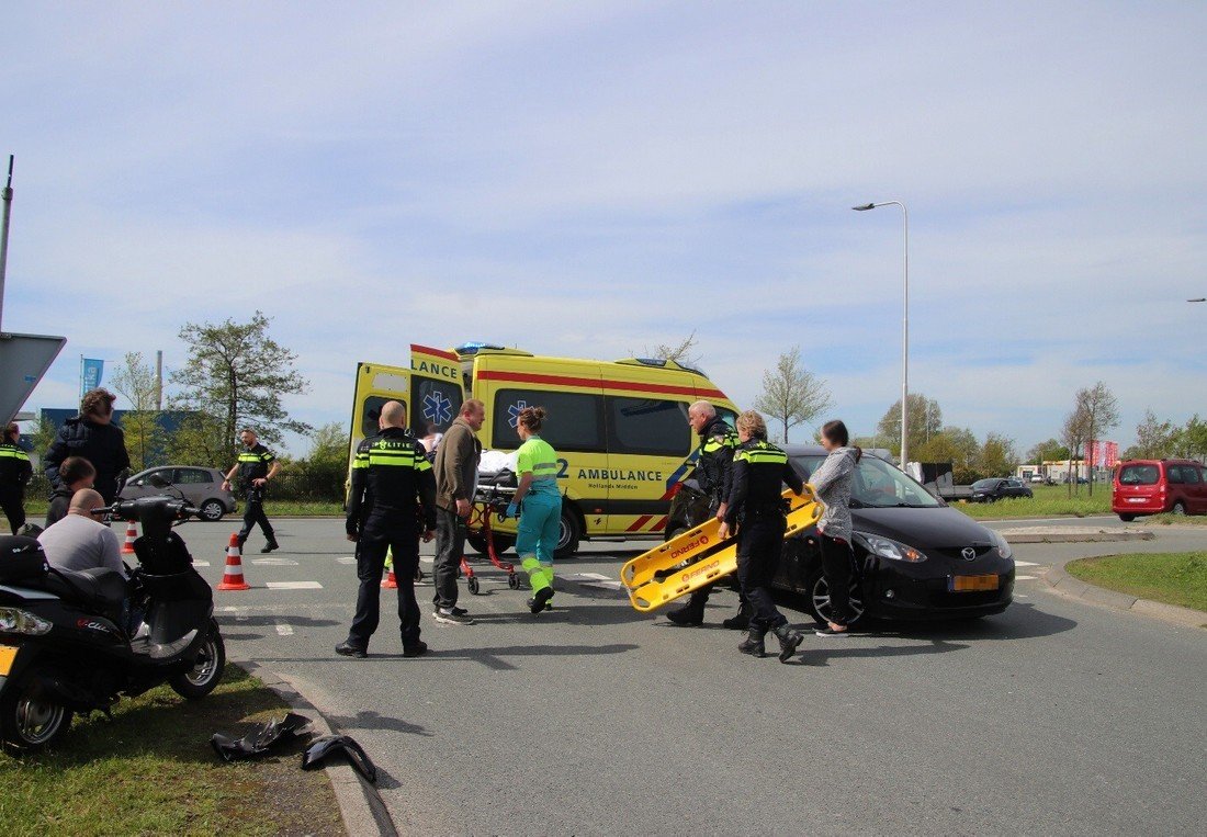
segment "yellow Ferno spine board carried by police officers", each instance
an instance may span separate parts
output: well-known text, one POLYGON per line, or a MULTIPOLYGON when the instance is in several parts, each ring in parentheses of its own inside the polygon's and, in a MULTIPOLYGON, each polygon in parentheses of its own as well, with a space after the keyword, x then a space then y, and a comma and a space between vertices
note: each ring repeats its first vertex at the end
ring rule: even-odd
MULTIPOLYGON (((783 492, 788 504, 787 538, 821 520, 822 503, 805 486, 798 497, 783 492)), ((737 539, 722 540, 721 521, 710 517, 704 523, 676 535, 664 544, 629 561, 620 568, 620 583, 629 601, 641 611, 660 608, 667 602, 712 584, 737 569, 737 539)))

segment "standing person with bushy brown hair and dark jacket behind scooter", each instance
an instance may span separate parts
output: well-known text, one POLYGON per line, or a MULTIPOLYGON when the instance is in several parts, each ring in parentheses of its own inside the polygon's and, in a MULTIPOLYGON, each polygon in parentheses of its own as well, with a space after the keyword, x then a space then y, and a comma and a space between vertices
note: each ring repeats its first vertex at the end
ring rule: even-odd
POLYGON ((93 488, 105 503, 117 498, 122 472, 130 468, 126 451, 126 434, 113 422, 113 402, 117 396, 109 390, 89 390, 80 403, 80 415, 63 422, 51 449, 42 457, 42 469, 51 490, 63 487, 59 466, 69 456, 82 456, 97 469, 93 488))

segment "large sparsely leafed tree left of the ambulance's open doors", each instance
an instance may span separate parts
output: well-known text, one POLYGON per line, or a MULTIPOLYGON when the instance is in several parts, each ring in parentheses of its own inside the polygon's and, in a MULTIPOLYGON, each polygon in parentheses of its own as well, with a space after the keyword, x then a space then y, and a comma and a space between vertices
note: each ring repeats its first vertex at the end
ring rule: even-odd
MULTIPOLYGON (((281 396, 301 394, 309 382, 293 368, 297 356, 268 336, 269 320, 256 311, 250 322, 186 323, 180 339, 188 344, 188 359, 171 374, 182 388, 177 409, 206 416, 196 429, 205 446, 215 445, 214 422, 221 423, 223 456, 237 450, 235 434, 253 426, 267 443, 281 440, 284 431, 308 433, 310 426, 290 418, 281 396)), ((217 466, 221 467, 221 466, 217 466)))

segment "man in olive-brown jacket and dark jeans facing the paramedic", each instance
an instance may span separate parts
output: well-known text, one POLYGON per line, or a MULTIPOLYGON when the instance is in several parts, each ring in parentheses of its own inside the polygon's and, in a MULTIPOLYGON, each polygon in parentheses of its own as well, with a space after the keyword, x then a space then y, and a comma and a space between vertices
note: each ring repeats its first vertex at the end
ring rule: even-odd
POLYGON ((486 418, 486 408, 477 398, 461 405, 461 414, 444 432, 436 449, 436 584, 432 617, 445 625, 473 625, 473 619, 456 607, 456 574, 465 555, 466 520, 473 508, 478 485, 482 443, 474 435, 486 418))

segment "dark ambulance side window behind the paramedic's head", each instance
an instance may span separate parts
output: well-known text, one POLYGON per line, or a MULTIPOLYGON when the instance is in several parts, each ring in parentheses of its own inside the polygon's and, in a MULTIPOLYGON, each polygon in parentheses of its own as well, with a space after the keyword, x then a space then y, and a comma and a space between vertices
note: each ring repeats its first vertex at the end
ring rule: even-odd
POLYGON ((604 452, 604 397, 581 392, 550 392, 549 390, 500 390, 495 394, 491 447, 515 450, 515 421, 526 406, 543 406, 544 428, 541 438, 559 453, 579 451, 604 452))

